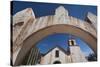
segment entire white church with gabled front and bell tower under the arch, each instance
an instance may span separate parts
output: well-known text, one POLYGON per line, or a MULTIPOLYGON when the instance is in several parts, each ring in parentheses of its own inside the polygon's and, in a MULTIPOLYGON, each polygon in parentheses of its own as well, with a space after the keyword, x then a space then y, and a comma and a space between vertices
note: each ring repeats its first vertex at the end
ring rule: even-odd
POLYGON ((69 40, 68 50, 56 46, 41 57, 40 64, 64 64, 73 62, 87 62, 87 59, 80 47, 76 45, 75 40, 69 40))

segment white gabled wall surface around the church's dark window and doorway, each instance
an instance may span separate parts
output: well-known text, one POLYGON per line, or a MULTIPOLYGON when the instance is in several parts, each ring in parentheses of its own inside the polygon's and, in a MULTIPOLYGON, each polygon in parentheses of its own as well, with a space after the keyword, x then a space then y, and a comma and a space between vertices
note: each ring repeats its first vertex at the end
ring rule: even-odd
POLYGON ((68 62, 66 59, 70 59, 70 58, 68 58, 67 55, 63 51, 61 51, 59 48, 56 47, 41 58, 40 64, 53 64, 55 61, 66 63, 68 62), (55 57, 56 50, 59 51, 59 57, 55 57))

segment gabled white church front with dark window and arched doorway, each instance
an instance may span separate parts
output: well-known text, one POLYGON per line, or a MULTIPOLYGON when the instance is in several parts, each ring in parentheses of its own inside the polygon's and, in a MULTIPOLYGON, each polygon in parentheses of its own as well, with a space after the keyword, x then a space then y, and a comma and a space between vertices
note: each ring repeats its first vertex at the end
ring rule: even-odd
POLYGON ((67 56, 64 50, 62 50, 60 47, 55 47, 41 58, 40 64, 61 64, 71 62, 68 57, 70 56, 67 56))

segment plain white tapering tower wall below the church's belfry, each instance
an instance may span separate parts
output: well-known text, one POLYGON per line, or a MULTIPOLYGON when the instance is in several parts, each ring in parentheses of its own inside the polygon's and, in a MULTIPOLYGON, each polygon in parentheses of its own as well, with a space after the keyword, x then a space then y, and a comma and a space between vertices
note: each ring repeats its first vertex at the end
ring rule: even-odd
POLYGON ((70 46, 70 55, 72 58, 72 62, 87 62, 85 55, 77 45, 70 46))

